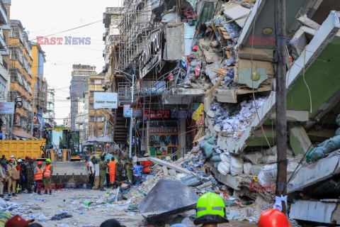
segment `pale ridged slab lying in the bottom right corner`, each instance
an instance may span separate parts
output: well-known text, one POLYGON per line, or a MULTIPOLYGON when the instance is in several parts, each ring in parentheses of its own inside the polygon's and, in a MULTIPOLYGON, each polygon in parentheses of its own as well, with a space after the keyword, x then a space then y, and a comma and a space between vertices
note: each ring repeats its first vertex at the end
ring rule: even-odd
POLYGON ((289 217, 301 221, 340 224, 340 200, 298 200, 290 206, 289 217))

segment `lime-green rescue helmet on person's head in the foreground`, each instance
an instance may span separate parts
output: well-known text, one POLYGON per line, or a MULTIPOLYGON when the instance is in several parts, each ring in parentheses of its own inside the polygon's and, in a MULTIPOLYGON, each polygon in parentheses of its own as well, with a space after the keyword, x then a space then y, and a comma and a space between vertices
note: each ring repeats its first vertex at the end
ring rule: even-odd
POLYGON ((225 202, 215 193, 208 192, 200 196, 196 204, 197 218, 193 223, 202 227, 217 227, 219 223, 228 223, 225 218, 225 202))

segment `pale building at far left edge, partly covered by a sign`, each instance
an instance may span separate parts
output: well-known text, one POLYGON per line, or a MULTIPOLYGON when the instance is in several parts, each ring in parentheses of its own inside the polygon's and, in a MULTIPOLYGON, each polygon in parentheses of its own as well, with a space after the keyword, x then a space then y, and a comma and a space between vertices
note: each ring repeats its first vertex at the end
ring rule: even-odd
MULTIPOLYGON (((8 92, 11 83, 11 77, 8 74, 9 50, 8 34, 11 26, 9 25, 11 0, 0 0, 0 101, 10 101, 8 92)), ((0 131, 3 128, 8 129, 11 116, 0 115, 0 131)))

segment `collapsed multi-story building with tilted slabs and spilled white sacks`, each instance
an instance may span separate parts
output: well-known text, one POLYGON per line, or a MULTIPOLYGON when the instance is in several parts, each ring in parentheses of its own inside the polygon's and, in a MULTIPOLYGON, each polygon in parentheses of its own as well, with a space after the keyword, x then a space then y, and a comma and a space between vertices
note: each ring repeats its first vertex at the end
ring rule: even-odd
MULTIPOLYGON (((297 200, 290 217, 339 223, 339 4, 286 6, 284 187, 297 200)), ((199 149, 236 194, 270 199, 263 192, 277 187, 275 23, 274 1, 125 1, 108 73, 121 106, 115 138, 126 141, 124 107, 133 109, 136 155, 178 160, 199 149)))

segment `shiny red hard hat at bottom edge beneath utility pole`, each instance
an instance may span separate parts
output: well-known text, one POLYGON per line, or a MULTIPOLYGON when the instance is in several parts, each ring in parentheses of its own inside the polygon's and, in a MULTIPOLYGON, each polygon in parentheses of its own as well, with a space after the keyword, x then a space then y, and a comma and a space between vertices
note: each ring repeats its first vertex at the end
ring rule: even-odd
POLYGON ((258 227, 289 227, 288 218, 279 209, 268 209, 263 211, 258 227))

